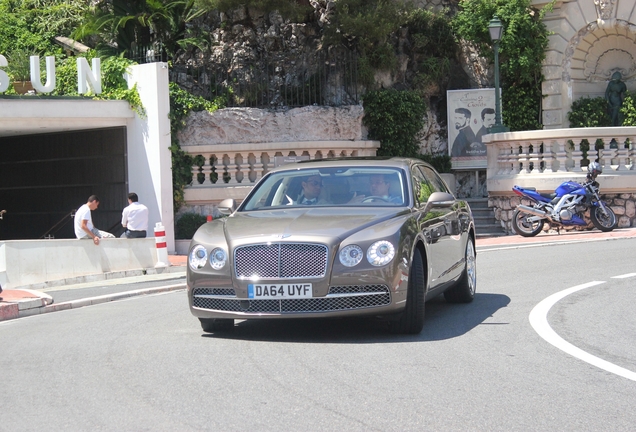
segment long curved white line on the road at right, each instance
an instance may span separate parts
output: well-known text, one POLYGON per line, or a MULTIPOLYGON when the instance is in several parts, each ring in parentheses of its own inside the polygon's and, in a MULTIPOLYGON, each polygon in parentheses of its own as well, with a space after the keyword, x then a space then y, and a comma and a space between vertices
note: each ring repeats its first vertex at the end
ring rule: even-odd
POLYGON ((575 347, 571 343, 564 340, 561 336, 556 334, 550 324, 548 324, 548 312, 550 308, 554 306, 559 300, 565 298, 566 296, 575 293, 577 291, 583 290, 585 288, 590 288, 596 285, 600 285, 605 283, 604 281, 593 281, 588 282, 582 285, 577 285, 572 288, 568 288, 566 290, 560 291, 558 293, 552 294, 550 297, 542 300, 538 305, 532 309, 530 312, 529 320, 532 328, 537 332, 539 336, 545 339, 548 343, 554 345, 561 351, 570 354, 573 357, 578 358, 579 360, 583 360, 586 363, 591 364, 592 366, 596 366, 600 369, 603 369, 607 372, 616 374, 623 378, 627 378, 632 381, 636 381, 636 373, 622 368, 620 366, 616 366, 613 363, 610 363, 606 360, 593 356, 590 353, 583 351, 580 348, 575 347))

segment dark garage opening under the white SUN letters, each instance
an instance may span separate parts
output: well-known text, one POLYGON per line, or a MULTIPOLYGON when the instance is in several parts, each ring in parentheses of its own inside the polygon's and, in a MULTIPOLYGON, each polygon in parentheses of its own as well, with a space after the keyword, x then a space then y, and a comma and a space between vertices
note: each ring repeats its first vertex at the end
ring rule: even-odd
POLYGON ((123 127, 0 139, 0 240, 74 238, 71 214, 93 194, 95 226, 118 235, 126 164, 123 127))

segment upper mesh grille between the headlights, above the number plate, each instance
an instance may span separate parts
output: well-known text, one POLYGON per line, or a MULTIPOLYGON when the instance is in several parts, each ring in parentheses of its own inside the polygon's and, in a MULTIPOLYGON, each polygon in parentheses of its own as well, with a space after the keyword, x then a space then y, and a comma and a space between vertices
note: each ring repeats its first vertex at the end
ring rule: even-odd
POLYGON ((239 279, 323 277, 327 247, 307 243, 258 244, 236 248, 234 270, 239 279))

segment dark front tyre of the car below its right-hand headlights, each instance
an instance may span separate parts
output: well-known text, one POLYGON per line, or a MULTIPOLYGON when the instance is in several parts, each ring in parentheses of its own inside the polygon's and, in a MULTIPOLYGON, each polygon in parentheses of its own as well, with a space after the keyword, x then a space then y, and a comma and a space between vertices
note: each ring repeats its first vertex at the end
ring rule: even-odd
POLYGON ((424 274, 422 254, 418 249, 415 249, 409 273, 406 308, 398 320, 389 321, 391 333, 418 334, 422 331, 424 327, 424 304, 426 301, 426 278, 424 274))

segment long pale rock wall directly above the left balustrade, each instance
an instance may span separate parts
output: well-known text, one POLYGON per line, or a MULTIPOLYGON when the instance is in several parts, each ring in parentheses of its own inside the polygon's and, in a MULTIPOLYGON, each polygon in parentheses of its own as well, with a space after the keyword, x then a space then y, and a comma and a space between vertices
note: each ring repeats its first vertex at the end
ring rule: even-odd
POLYGON ((227 108, 192 113, 179 133, 181 146, 367 139, 359 105, 290 110, 227 108))

